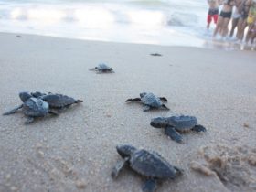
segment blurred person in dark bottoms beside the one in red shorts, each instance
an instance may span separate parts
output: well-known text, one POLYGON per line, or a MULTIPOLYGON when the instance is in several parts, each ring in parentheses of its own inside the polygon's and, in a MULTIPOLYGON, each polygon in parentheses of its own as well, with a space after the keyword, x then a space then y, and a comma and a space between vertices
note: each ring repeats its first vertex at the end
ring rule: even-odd
POLYGON ((213 37, 216 37, 217 33, 219 33, 221 37, 226 37, 229 33, 228 26, 232 16, 233 5, 235 5, 235 0, 224 1, 222 10, 218 17, 217 25, 213 33, 213 37))

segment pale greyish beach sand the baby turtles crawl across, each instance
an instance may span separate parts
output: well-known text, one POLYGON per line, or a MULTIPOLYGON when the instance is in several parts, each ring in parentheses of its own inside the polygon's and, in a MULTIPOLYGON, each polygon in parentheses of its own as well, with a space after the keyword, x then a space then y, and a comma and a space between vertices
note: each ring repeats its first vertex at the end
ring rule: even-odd
POLYGON ((255 191, 255 52, 3 33, 0 42, 1 113, 20 103, 19 91, 84 100, 29 125, 20 112, 0 116, 1 192, 141 191, 144 178, 129 169, 112 180, 116 144, 155 150, 185 170, 157 191, 255 191), (100 62, 115 73, 89 71, 100 62), (124 102, 142 91, 165 96, 171 111, 124 102), (208 132, 177 144, 149 124, 173 114, 197 116, 208 132))

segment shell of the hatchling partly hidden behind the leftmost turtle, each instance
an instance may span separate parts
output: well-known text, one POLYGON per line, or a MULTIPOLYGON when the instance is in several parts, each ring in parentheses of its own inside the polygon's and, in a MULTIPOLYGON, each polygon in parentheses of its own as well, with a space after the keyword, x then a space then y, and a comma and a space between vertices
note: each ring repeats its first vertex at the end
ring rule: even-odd
POLYGON ((43 101, 48 102, 49 107, 62 108, 78 102, 74 98, 62 94, 48 94, 41 97, 43 101))

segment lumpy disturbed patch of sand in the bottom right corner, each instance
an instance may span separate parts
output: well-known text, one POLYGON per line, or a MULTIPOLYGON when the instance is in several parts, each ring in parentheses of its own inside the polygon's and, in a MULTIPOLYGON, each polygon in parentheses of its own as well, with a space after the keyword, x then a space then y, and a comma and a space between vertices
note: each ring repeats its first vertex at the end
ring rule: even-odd
POLYGON ((206 160, 206 164, 193 164, 192 169, 206 176, 218 176, 230 191, 256 191, 255 148, 218 144, 205 146, 199 153, 206 160), (209 174, 211 171, 213 174, 209 174))

